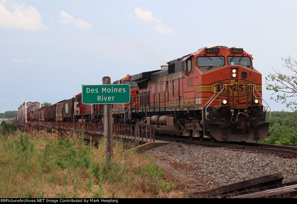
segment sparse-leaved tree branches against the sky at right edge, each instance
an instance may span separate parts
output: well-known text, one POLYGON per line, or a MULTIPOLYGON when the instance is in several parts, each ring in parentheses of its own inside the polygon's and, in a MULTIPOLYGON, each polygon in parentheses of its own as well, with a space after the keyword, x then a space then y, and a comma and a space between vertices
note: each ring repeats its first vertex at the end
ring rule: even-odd
POLYGON ((293 72, 292 75, 283 74, 279 70, 274 70, 275 73, 269 73, 266 79, 266 89, 273 90, 273 94, 277 96, 271 97, 276 102, 282 101, 287 104, 292 110, 297 108, 297 61, 289 56, 282 60, 285 62, 285 69, 293 72))

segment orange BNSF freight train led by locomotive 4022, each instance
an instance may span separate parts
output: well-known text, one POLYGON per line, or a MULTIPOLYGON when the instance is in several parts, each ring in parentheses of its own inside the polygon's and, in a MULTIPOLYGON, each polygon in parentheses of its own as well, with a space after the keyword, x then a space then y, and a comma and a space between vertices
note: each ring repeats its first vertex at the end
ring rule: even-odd
MULTIPOLYGON (((212 141, 258 141, 268 134, 262 75, 242 48, 201 48, 113 84, 129 84, 131 96, 129 104, 113 104, 116 124, 212 141)), ((28 120, 40 121, 102 123, 102 118, 103 106, 83 104, 81 93, 28 112, 28 120)))

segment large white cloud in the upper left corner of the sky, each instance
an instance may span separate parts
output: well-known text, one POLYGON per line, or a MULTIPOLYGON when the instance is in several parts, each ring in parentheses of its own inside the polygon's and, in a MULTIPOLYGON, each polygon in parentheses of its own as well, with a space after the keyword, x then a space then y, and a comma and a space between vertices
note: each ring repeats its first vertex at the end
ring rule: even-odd
POLYGON ((41 15, 36 8, 12 1, 0 2, 0 27, 25 31, 40 31, 47 28, 42 23, 41 15))

